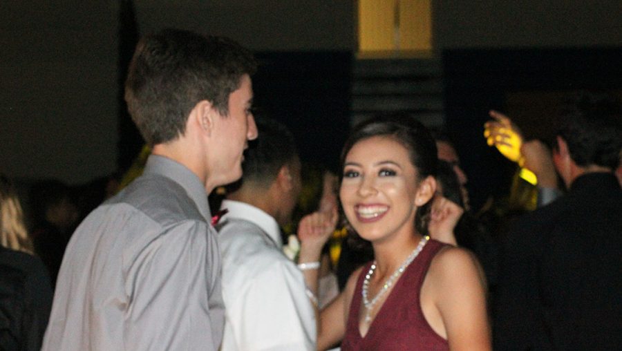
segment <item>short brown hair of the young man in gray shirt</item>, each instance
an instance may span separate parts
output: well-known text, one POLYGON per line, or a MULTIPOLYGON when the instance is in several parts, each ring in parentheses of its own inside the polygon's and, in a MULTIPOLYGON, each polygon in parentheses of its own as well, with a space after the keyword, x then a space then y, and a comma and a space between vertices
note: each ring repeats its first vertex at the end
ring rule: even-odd
POLYGON ((140 40, 125 82, 132 120, 150 144, 185 132, 190 111, 202 100, 229 114, 229 95, 252 75, 252 53, 224 37, 162 30, 140 40))

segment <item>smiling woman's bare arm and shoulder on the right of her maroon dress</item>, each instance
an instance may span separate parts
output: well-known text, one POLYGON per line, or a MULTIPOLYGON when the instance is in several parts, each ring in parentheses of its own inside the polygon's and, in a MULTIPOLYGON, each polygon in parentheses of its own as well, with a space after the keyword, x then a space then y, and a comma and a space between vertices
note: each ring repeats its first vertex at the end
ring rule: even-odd
POLYGON ((437 327, 435 330, 439 334, 446 336, 451 350, 492 348, 485 278, 478 267, 478 260, 468 250, 458 247, 443 249, 432 260, 422 287, 422 307, 428 307, 424 308, 424 315, 426 310, 433 311, 432 321, 428 322, 433 328, 437 327), (432 309, 429 308, 430 301, 433 302, 432 309), (440 319, 434 320, 435 315, 440 319))

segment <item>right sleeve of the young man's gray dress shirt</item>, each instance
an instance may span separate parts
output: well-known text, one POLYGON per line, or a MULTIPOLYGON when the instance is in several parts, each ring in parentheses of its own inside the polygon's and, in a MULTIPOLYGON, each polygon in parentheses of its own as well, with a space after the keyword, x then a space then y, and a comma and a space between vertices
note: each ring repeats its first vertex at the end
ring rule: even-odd
MULTIPOLYGON (((220 294, 218 245, 207 223, 171 227, 135 258, 126 291, 126 350, 217 350, 210 294, 220 294)), ((221 301, 220 296, 214 296, 221 301)))

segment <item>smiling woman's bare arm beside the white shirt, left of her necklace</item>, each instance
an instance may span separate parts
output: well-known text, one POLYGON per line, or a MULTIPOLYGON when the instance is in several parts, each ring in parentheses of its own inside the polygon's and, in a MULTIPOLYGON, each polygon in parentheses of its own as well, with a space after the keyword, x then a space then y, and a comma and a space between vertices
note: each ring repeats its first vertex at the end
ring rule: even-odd
POLYGON ((317 336, 317 349, 326 350, 343 339, 350 314, 350 302, 355 292, 361 269, 355 270, 348 278, 346 288, 337 298, 320 312, 320 328, 317 336))

